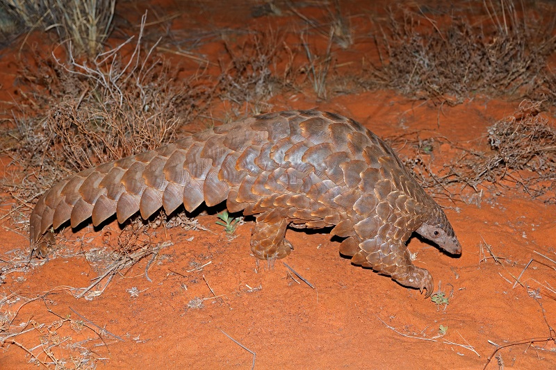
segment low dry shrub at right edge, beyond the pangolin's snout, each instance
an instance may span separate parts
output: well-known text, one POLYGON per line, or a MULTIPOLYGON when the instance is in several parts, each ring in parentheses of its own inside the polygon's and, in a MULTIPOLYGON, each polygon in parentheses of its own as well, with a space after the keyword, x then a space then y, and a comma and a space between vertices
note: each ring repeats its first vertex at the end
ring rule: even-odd
POLYGON ((495 194, 496 187, 513 187, 534 199, 556 203, 556 129, 540 111, 540 102, 521 102, 514 115, 489 127, 488 148, 484 151, 457 148, 455 160, 440 169, 431 169, 432 161, 427 157, 439 144, 447 142, 445 138, 396 137, 390 142, 398 147, 403 144, 405 164, 423 187, 430 188, 436 196, 466 200, 470 198, 462 194, 466 187, 475 192, 489 188, 495 194))

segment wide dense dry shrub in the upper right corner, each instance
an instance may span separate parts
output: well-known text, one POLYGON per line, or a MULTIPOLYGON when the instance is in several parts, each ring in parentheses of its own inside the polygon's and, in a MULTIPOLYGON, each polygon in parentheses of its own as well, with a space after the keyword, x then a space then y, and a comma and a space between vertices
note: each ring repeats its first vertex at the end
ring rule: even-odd
POLYGON ((477 92, 544 99, 539 86, 556 87, 546 67, 556 49, 554 25, 518 12, 512 1, 498 6, 485 5, 486 24, 452 16, 445 26, 407 9, 391 11, 389 27, 375 37, 386 57, 370 70, 370 83, 452 104, 477 92))

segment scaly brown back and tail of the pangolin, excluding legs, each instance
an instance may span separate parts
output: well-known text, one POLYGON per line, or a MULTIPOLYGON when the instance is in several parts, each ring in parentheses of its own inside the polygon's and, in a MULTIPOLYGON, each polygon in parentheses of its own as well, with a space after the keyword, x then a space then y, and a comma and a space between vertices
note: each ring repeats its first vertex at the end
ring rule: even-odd
POLYGON ((182 203, 192 211, 203 201, 210 206, 224 200, 231 212, 273 209, 308 227, 348 220, 336 230, 343 235, 342 229, 353 230, 377 212, 386 221, 391 209, 380 204, 389 195, 385 207, 397 217, 438 207, 392 149, 352 119, 313 110, 278 112, 218 126, 60 181, 35 206, 30 239, 35 246, 51 226, 67 220, 76 227, 92 217, 97 226, 116 214, 122 223, 137 211, 147 219, 161 207, 170 214, 182 203), (395 203, 400 197, 401 210, 395 203))

